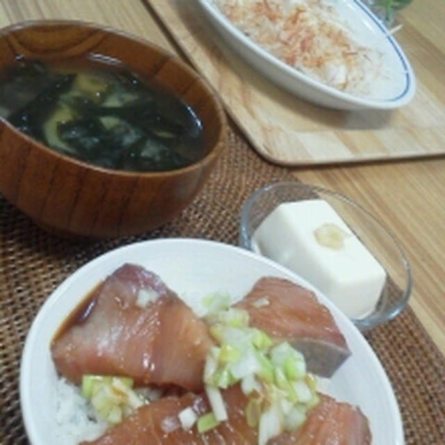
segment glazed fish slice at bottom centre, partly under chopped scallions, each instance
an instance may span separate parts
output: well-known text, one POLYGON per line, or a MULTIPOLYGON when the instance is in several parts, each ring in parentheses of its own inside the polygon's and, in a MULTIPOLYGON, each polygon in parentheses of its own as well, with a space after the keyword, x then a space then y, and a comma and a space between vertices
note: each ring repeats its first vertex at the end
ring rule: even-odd
POLYGON ((162 398, 150 405, 138 408, 121 423, 113 426, 99 439, 82 442, 81 445, 248 445, 257 443, 257 431, 245 422, 244 408, 247 398, 238 386, 230 387, 223 395, 229 407, 229 420, 205 433, 198 433, 196 426, 189 430, 181 427, 178 414, 193 407, 200 416, 209 412, 203 395, 186 394, 181 398, 162 398))

